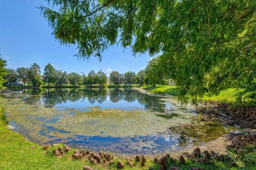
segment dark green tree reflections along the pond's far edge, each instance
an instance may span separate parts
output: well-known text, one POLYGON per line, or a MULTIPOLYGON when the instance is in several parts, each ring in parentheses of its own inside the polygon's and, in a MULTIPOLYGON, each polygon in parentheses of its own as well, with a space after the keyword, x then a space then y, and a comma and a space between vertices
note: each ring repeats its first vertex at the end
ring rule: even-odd
MULTIPOLYGON (((111 88, 110 100, 113 103, 117 103, 120 100, 128 101, 129 103, 138 100, 141 105, 144 105, 146 109, 151 109, 157 112, 165 112, 165 104, 161 103, 161 97, 143 94, 132 88, 111 88)), ((94 104, 98 102, 102 104, 107 99, 107 90, 105 88, 100 89, 25 89, 23 93, 33 95, 26 97, 24 100, 26 103, 35 103, 42 97, 45 107, 53 107, 57 104, 66 103, 67 101, 87 100, 89 103, 94 104), (36 95, 36 97, 35 97, 36 95)))

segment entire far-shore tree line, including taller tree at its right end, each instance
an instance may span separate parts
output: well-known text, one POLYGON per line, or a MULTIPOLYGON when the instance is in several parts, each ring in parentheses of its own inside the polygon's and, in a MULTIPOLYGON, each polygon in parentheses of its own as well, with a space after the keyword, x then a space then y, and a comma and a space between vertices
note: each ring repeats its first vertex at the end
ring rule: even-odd
MULTIPOLYGON (((121 74, 117 71, 110 73, 110 83, 119 86, 125 84, 131 86, 132 84, 163 84, 164 75, 161 67, 159 67, 158 58, 153 58, 149 61, 145 70, 135 72, 129 71, 121 74)), ((67 73, 66 71, 56 70, 51 64, 47 64, 44 68, 43 75, 41 75, 41 68, 38 64, 34 63, 30 67, 19 67, 18 69, 6 69, 6 61, 0 58, 0 87, 5 83, 15 83, 19 79, 24 85, 29 86, 41 86, 46 84, 50 86, 62 86, 63 84, 70 84, 72 86, 93 86, 98 84, 103 86, 107 83, 107 75, 103 71, 91 70, 87 75, 83 72, 81 74, 72 72, 67 73)))

